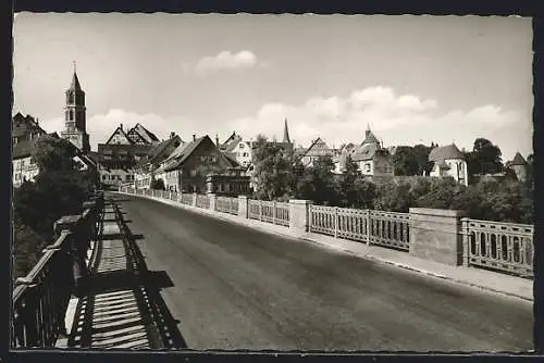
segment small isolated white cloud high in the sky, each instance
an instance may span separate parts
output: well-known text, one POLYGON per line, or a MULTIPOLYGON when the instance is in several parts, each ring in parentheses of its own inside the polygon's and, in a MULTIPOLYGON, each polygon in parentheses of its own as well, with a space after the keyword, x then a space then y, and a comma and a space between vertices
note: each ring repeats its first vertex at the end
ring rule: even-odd
MULTIPOLYGON (((203 74, 221 70, 251 68, 257 65, 268 66, 265 63, 258 63, 257 55, 249 50, 242 50, 237 53, 222 51, 218 55, 200 59, 195 65, 195 72, 203 74)), ((183 67, 186 68, 186 65, 183 67)))

